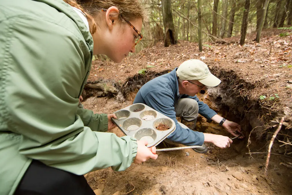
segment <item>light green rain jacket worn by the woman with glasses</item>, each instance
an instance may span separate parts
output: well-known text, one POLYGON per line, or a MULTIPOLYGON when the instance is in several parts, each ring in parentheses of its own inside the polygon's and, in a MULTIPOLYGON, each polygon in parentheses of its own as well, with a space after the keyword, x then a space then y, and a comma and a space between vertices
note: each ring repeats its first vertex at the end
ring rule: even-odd
POLYGON ((62 0, 0 0, 0 194, 36 159, 83 175, 128 168, 137 141, 107 131, 107 115, 77 108, 93 39, 62 0))

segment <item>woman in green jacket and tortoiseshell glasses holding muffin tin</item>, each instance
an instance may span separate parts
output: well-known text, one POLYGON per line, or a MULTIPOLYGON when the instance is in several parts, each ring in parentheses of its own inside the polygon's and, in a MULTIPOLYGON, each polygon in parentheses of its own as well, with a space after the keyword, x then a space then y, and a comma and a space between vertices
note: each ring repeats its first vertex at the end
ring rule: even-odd
POLYGON ((137 0, 0 1, 0 194, 94 194, 84 174, 156 159, 78 108, 92 56, 119 63, 142 38, 137 0))

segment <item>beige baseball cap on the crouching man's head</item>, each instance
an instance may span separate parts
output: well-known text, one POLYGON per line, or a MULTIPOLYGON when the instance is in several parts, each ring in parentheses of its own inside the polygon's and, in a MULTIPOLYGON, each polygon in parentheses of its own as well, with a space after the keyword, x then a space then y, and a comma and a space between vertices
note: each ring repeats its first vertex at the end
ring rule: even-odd
POLYGON ((176 70, 180 80, 198 80, 208 87, 215 87, 221 80, 210 73, 208 66, 200 60, 184 61, 176 70))

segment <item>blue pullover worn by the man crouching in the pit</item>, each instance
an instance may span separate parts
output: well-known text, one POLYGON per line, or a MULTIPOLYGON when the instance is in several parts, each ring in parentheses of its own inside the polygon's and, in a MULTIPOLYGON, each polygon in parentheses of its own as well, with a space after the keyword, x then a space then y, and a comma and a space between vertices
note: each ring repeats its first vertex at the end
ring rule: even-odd
POLYGON ((176 70, 177 68, 144 84, 138 91, 133 103, 144 103, 174 120, 175 131, 167 137, 171 141, 179 142, 186 146, 201 146, 204 143, 204 134, 181 127, 176 120, 174 106, 180 98, 192 98, 199 104, 199 114, 208 120, 211 120, 217 113, 209 108, 207 104, 199 101, 197 96, 179 94, 176 70))

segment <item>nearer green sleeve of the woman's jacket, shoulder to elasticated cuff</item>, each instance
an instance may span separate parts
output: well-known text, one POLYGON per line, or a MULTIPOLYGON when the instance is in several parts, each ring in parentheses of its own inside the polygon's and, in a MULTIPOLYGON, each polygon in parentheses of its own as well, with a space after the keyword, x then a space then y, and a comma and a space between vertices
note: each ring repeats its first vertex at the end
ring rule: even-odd
POLYGON ((105 116, 77 111, 85 64, 91 63, 79 30, 37 18, 19 18, 9 28, 3 94, 8 129, 22 136, 19 153, 77 175, 128 168, 137 141, 92 131, 89 127, 105 129, 105 116), (80 115, 90 118, 89 127, 80 115))

